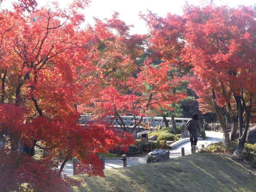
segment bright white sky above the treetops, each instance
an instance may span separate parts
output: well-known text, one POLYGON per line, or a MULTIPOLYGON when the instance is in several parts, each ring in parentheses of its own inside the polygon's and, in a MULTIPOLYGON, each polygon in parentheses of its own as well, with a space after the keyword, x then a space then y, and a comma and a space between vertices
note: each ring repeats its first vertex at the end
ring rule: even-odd
MULTIPOLYGON (((13 0, 4 0, 1 8, 10 8, 13 0)), ((52 0, 37 0, 38 6, 44 6, 47 2, 52 0)), ((55 0, 60 3, 61 7, 65 7, 72 0, 55 0)), ((175 14, 182 14, 182 7, 186 0, 91 0, 90 6, 84 10, 85 24, 93 25, 93 17, 98 17, 103 20, 110 18, 114 11, 119 12, 120 19, 124 20, 128 25, 134 25, 131 33, 145 34, 148 29, 145 22, 138 16, 139 12, 146 13, 147 9, 157 13, 159 16, 165 16, 166 13, 171 12, 175 14)), ((204 4, 207 0, 187 0, 188 4, 204 4)), ((239 4, 254 5, 256 0, 214 0, 214 4, 228 4, 235 7, 239 4)))

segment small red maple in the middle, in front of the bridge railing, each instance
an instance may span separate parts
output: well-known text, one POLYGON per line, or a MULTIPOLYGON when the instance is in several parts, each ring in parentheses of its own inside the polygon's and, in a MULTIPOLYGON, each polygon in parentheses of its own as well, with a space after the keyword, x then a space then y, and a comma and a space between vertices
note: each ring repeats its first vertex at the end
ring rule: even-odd
POLYGON ((158 110, 160 107, 172 109, 171 104, 186 98, 185 93, 174 91, 183 81, 177 76, 168 78, 170 65, 162 63, 159 66, 151 66, 150 60, 146 60, 144 64, 136 78, 130 77, 123 83, 123 87, 129 90, 128 94, 113 87, 101 92, 101 97, 94 100, 96 114, 101 114, 103 117, 112 115, 111 120, 116 119, 125 130, 126 125, 121 116, 132 115, 134 125, 131 132, 133 132, 149 110, 158 110), (139 119, 136 119, 136 116, 139 116, 139 119))

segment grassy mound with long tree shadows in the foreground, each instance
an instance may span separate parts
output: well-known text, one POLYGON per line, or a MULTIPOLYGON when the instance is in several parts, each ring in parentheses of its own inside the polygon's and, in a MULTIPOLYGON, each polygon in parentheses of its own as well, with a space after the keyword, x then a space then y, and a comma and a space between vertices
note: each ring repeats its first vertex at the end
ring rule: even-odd
POLYGON ((106 178, 85 179, 73 191, 255 191, 255 172, 225 155, 193 154, 164 163, 105 170, 106 178))

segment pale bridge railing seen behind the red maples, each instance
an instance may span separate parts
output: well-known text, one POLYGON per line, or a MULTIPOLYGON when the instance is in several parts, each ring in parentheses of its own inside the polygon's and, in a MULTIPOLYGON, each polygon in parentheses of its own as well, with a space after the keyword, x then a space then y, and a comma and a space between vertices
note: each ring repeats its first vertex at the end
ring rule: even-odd
MULTIPOLYGON (((114 116, 107 116, 106 120, 111 121, 111 117, 113 118, 114 116)), ((91 116, 89 115, 81 115, 80 119, 78 120, 79 123, 81 124, 86 124, 88 121, 90 121, 91 116)), ((123 122, 126 125, 126 127, 132 127, 134 124, 134 117, 133 116, 122 116, 123 122)), ((168 124, 172 124, 172 118, 171 117, 166 117, 168 124)), ((174 118, 175 124, 176 125, 182 125, 183 123, 187 122, 190 118, 174 118)), ((140 117, 136 116, 136 120, 140 120, 140 117)), ((164 124, 164 119, 163 117, 143 117, 143 120, 141 123, 144 124, 149 124, 151 127, 156 127, 158 125, 165 125, 164 124)), ((113 124, 116 126, 119 126, 116 120, 113 121, 113 124)), ((140 126, 138 126, 140 128, 140 126)))

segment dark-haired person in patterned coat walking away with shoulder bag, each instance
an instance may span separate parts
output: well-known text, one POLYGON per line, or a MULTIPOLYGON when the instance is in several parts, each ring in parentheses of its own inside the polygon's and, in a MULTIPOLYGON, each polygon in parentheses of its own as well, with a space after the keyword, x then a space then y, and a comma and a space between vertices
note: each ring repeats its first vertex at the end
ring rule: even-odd
POLYGON ((198 133, 201 137, 201 128, 198 119, 198 115, 196 113, 193 114, 192 119, 188 120, 186 123, 186 128, 189 132, 189 138, 191 143, 191 152, 193 153, 193 145, 197 144, 198 133))

